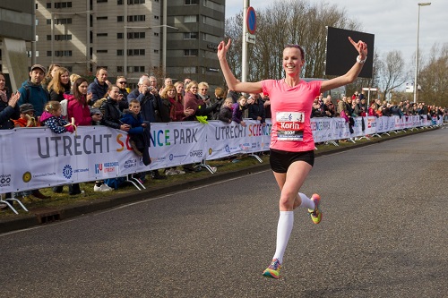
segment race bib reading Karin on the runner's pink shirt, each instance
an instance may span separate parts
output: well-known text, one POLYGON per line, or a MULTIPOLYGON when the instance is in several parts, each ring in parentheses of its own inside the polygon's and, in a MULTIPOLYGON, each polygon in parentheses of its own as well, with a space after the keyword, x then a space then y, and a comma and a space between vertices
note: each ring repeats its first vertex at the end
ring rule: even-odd
POLYGON ((277 140, 304 140, 304 112, 278 112, 276 119, 277 140))

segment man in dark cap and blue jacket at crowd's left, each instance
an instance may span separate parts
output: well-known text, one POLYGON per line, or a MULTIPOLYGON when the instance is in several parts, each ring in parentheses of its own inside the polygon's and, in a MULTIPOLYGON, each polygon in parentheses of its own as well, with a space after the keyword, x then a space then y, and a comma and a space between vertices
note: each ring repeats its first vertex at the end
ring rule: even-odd
POLYGON ((34 107, 34 115, 39 117, 44 111, 44 107, 49 100, 49 94, 42 88, 42 80, 45 76, 45 67, 40 64, 31 66, 30 80, 24 81, 19 89, 21 98, 18 105, 31 104, 34 107))

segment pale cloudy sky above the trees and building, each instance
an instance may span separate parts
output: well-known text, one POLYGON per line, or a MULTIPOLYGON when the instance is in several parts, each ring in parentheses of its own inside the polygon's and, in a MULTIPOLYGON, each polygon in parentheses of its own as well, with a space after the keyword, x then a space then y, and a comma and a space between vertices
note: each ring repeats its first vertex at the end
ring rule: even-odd
MULTIPOLYGON (((278 0, 276 0, 278 1, 278 0)), ((287 1, 287 0, 285 0, 287 1)), ((312 1, 312 0, 310 0, 312 1)), ((264 9, 273 0, 252 0, 250 5, 264 9)), ((416 0, 337 0, 324 1, 345 9, 352 19, 361 22, 363 32, 375 34, 375 49, 380 55, 399 50, 406 63, 412 64, 417 47, 418 3, 416 0)), ((234 16, 243 9, 245 0, 227 0, 226 17, 234 16)), ((419 56, 429 55, 435 42, 448 43, 448 1, 435 0, 420 8, 419 56)), ((256 32, 255 32, 256 35, 256 32)), ((415 64, 415 61, 413 62, 415 64)))

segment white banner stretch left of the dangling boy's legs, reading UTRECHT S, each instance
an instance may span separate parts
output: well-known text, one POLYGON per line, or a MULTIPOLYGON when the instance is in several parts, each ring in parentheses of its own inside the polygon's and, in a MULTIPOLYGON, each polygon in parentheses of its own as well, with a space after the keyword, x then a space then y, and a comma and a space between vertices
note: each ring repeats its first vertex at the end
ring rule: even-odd
POLYGON ((1 175, 8 177, 0 192, 95 181, 144 166, 130 148, 127 133, 104 126, 82 126, 76 134, 22 128, 0 135, 1 175))

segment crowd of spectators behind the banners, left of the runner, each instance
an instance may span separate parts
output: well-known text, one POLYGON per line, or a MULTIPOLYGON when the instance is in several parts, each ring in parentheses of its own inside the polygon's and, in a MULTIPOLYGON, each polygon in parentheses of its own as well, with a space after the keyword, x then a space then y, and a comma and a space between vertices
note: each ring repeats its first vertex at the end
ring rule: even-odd
MULTIPOLYGON (((129 89, 124 76, 116 77, 115 83, 109 81, 108 70, 103 67, 90 82, 70 73, 61 64, 51 64, 48 70, 35 64, 29 74, 30 79, 12 93, 0 72, 0 129, 48 126, 55 133, 71 133, 78 126, 105 125, 128 132, 131 148, 145 165, 151 163, 148 149, 151 123, 223 120, 244 126, 243 119, 249 117, 265 125, 265 119, 271 116, 269 97, 265 94, 251 94, 246 98, 218 87, 211 97, 206 81, 198 83, 190 78, 174 84, 172 79, 164 78, 159 86, 158 78, 143 73, 137 88, 129 89)), ((216 171, 216 167, 211 169, 216 171)), ((167 179, 169 175, 200 170, 200 166, 185 165, 182 169, 163 169, 161 174, 159 170, 136 174, 134 178, 144 183, 147 175, 151 179, 167 179)), ((69 194, 81 193, 79 184, 68 186, 69 194)), ((113 187, 107 181, 96 181, 93 190, 109 192, 113 187)), ((63 185, 54 187, 53 192, 63 192, 63 185)), ((29 200, 50 198, 39 190, 15 193, 15 196, 29 200)))

